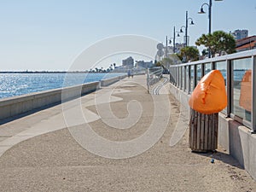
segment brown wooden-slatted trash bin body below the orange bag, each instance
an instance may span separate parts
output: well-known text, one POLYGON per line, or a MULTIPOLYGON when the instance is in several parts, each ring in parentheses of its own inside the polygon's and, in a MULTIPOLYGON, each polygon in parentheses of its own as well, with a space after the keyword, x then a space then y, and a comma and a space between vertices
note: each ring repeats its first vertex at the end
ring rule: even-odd
POLYGON ((218 148, 218 113, 203 114, 191 108, 189 148, 202 153, 218 148))

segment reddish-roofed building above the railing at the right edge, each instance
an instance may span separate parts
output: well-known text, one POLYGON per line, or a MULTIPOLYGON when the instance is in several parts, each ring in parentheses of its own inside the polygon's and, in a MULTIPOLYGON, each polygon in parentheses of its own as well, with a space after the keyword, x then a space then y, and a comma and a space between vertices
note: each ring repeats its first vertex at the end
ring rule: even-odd
POLYGON ((239 40, 236 40, 236 51, 244 51, 244 50, 250 50, 250 49, 256 49, 256 36, 251 36, 247 38, 241 38, 239 40))

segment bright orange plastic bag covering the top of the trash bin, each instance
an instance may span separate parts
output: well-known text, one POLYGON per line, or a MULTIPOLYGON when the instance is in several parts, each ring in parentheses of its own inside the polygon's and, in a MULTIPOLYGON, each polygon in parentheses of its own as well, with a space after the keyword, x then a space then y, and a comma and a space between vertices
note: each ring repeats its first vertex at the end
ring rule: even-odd
POLYGON ((207 73, 189 98, 190 108, 205 114, 218 113, 227 103, 224 77, 219 70, 207 73))

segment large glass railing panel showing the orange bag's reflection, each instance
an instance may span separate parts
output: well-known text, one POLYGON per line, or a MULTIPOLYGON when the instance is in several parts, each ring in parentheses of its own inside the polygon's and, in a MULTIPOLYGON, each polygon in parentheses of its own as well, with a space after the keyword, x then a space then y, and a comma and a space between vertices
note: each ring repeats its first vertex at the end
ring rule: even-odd
POLYGON ((252 58, 234 60, 231 63, 233 69, 231 113, 250 122, 252 111, 252 58))

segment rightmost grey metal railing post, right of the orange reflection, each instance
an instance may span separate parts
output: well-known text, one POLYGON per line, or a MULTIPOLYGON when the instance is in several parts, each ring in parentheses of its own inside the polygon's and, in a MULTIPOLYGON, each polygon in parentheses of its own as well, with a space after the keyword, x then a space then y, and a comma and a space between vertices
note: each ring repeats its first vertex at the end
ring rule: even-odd
POLYGON ((252 115, 252 133, 256 133, 256 117, 255 117, 255 115, 256 115, 256 101, 255 101, 255 97, 254 96, 256 96, 256 84, 255 84, 255 82, 256 82, 256 56, 254 55, 254 56, 252 56, 252 65, 253 65, 253 67, 252 67, 252 71, 253 71, 253 73, 252 73, 252 75, 253 75, 253 77, 252 77, 252 113, 251 113, 251 115, 252 115))

